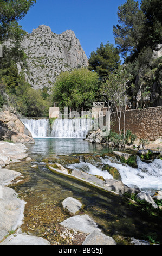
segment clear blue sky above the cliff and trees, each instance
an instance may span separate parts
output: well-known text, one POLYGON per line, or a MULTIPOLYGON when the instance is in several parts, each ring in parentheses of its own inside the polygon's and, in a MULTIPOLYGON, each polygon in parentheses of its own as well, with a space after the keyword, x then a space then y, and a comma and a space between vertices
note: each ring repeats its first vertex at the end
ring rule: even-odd
MULTIPOLYGON (((92 51, 107 41, 115 45, 113 25, 118 23, 119 5, 126 0, 37 0, 23 20, 22 28, 31 33, 44 24, 56 34, 74 31, 89 58, 92 51)), ((140 2, 140 1, 139 1, 140 2)))

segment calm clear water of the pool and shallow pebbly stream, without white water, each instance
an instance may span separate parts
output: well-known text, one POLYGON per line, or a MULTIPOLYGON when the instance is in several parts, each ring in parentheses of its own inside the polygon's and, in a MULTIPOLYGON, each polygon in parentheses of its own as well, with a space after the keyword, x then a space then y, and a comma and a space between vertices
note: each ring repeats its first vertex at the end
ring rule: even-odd
POLYGON ((141 211, 126 198, 51 173, 43 162, 45 157, 56 154, 107 153, 107 146, 88 143, 83 139, 35 138, 35 144, 27 147, 32 161, 9 166, 24 176, 22 183, 12 185, 27 202, 23 231, 45 237, 53 245, 81 244, 83 237, 69 241, 60 236, 62 230, 59 223, 70 217, 61 203, 67 197, 74 197, 85 205, 82 213, 91 216, 103 233, 112 236, 119 245, 126 243, 128 237, 145 239, 154 233, 157 241, 162 242, 159 217, 141 211), (37 164, 38 168, 31 168, 33 164, 37 164))

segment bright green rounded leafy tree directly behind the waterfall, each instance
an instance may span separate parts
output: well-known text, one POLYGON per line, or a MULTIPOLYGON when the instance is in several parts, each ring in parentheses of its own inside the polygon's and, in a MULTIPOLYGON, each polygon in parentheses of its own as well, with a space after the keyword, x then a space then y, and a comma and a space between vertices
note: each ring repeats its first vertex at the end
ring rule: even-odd
POLYGON ((98 93, 99 77, 86 68, 61 72, 54 84, 53 97, 57 106, 72 110, 88 110, 98 93))

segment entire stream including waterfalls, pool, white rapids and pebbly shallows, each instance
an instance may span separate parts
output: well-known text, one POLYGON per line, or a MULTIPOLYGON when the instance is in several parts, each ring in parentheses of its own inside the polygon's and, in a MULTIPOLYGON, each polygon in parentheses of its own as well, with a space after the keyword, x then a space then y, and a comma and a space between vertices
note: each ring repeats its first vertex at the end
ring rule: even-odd
MULTIPOLYGON (((127 237, 145 239, 145 235, 152 233, 156 233, 157 241, 162 243, 160 218, 139 211, 137 206, 130 204, 120 196, 50 172, 43 159, 56 155, 82 153, 100 155, 100 163, 117 168, 126 185, 136 185, 141 191, 151 194, 155 190, 162 190, 162 160, 155 159, 151 163, 145 163, 137 156, 138 168, 135 169, 110 157, 102 158, 103 153, 112 152, 112 149, 108 149, 107 145, 92 144, 80 138, 85 136, 88 123, 85 123, 81 132, 73 129, 74 133, 70 133, 60 129, 61 133, 59 133, 58 126, 55 126, 57 123, 53 125, 55 131, 49 129, 48 119, 26 119, 23 122, 33 137, 35 136, 35 144, 27 145, 27 153, 32 160, 31 162, 12 163, 8 166, 24 176, 25 182, 12 185, 27 202, 23 231, 46 237, 53 245, 75 245, 74 241, 67 242, 66 239, 62 239, 60 236, 62 230, 59 226, 61 221, 70 217, 67 212, 63 211, 62 201, 67 197, 74 197, 85 204, 84 211, 98 223, 105 234, 119 239, 118 244, 123 244, 121 237, 126 241, 127 237), (63 132, 67 138, 62 136, 63 132), (53 136, 57 134, 58 137, 52 138, 51 134, 53 136), (73 136, 76 137, 72 138, 73 136), (31 168, 33 164, 37 164, 38 168, 31 168)), ((60 122, 59 119, 58 122, 60 122)), ((57 125, 61 125, 61 122, 57 125)), ((74 120, 69 127, 74 128, 74 120)), ((119 151, 119 149, 114 150, 119 151)), ((80 163, 69 164, 68 167, 81 169, 92 175, 103 176, 103 178, 112 178, 108 172, 103 172, 100 164, 97 163, 85 163, 80 160, 80 163)), ((81 238, 77 240, 77 244, 79 241, 82 242, 81 238)))

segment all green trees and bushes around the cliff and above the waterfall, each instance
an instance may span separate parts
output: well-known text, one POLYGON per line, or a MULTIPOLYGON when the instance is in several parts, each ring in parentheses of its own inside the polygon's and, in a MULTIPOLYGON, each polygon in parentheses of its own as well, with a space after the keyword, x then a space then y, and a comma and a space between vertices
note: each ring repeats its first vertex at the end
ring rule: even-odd
POLYGON ((142 0, 140 5, 138 1, 126 0, 119 6, 118 24, 113 26, 117 47, 109 41, 105 45, 101 42, 90 54, 88 69, 78 65, 71 72, 61 72, 53 95, 49 95, 46 86, 34 90, 23 75, 27 68, 27 56, 21 48, 25 31, 18 21, 35 3, 35 0, 0 0, 0 44, 6 40, 12 42, 10 47, 3 46, 4 57, 0 58, 0 108, 7 105, 24 116, 48 117, 53 101, 61 110, 68 106, 76 111, 82 108, 88 111, 93 101, 104 101, 111 111, 118 110, 119 135, 114 134, 114 141, 132 144, 135 138, 133 135, 127 138, 125 130, 126 107, 137 103, 134 99, 139 90, 141 100, 133 107, 159 106, 162 102, 162 57, 152 57, 153 50, 162 42, 160 0, 142 0), (121 65, 120 55, 124 65, 121 65), (17 63, 21 63, 21 72, 17 63), (121 114, 124 115, 123 131, 121 114))

